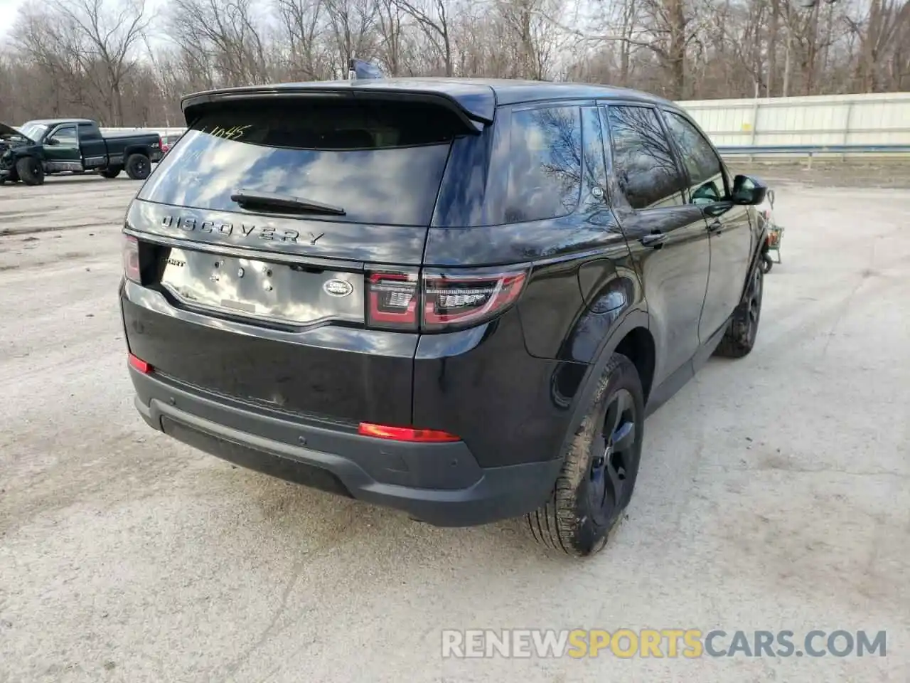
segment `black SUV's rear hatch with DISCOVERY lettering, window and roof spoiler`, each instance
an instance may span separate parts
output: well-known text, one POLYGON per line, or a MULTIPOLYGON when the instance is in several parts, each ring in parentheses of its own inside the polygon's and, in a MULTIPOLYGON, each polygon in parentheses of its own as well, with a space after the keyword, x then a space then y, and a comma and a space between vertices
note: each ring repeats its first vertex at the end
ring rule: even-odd
POLYGON ((410 423, 424 243, 451 142, 476 128, 407 94, 192 117, 127 215, 130 351, 243 401, 410 423))

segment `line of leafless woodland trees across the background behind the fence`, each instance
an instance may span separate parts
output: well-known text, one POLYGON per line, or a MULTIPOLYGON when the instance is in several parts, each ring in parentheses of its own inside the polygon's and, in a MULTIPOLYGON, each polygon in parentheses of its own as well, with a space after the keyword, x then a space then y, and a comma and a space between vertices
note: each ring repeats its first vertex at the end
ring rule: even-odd
POLYGON ((160 22, 151 2, 24 5, 0 119, 167 125, 188 92, 325 80, 350 56, 675 99, 910 89, 910 0, 155 0, 160 22))

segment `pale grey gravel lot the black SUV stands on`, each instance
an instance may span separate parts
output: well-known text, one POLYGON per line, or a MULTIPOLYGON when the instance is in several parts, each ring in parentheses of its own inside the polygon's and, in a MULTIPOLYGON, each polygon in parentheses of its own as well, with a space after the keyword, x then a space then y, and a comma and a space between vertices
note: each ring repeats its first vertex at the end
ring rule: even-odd
MULTIPOLYGON (((796 179, 794 179, 796 178, 796 179)), ((776 186, 757 346, 647 423, 612 547, 442 530, 152 432, 116 309, 139 185, 0 188, 0 680, 910 680, 910 185, 776 186), (442 628, 887 631, 858 658, 442 658, 442 628)))

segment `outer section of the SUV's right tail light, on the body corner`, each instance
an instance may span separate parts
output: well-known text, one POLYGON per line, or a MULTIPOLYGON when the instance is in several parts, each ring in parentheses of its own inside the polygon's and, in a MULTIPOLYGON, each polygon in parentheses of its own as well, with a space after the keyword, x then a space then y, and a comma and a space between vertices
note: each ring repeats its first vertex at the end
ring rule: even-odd
POLYGON ((526 278, 524 270, 490 275, 424 273, 421 329, 449 330, 489 321, 518 299, 526 278))

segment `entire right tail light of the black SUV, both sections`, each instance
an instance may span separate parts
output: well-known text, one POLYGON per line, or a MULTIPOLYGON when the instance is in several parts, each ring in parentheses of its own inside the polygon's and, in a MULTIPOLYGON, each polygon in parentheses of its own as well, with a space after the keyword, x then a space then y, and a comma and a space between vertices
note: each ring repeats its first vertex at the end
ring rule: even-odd
POLYGON ((514 303, 527 270, 483 273, 373 272, 367 323, 391 330, 444 331, 490 321, 514 303))

